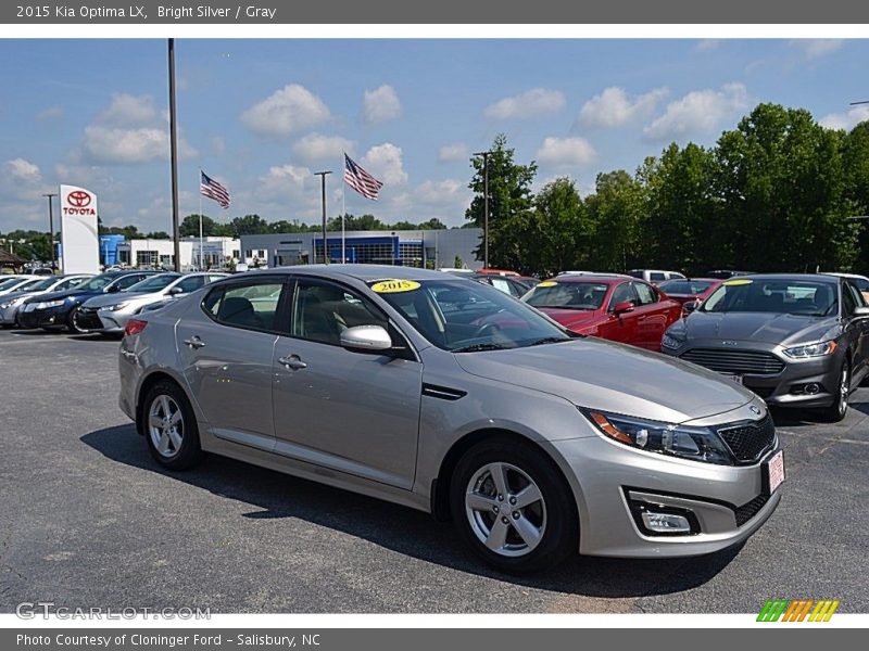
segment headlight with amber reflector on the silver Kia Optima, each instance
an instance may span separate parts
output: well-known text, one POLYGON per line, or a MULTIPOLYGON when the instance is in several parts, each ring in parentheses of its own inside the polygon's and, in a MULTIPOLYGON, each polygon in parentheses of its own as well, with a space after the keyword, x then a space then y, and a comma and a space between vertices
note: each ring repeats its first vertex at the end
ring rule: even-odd
POLYGON ((733 464, 725 443, 707 427, 673 425, 594 410, 583 412, 605 436, 627 446, 693 461, 733 464))

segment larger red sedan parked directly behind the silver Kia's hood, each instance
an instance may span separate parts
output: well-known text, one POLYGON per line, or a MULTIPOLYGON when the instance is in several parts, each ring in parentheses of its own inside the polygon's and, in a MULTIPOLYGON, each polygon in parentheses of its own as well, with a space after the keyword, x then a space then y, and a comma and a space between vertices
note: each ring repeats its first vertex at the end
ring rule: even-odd
POLYGON ((580 334, 660 350, 660 340, 682 316, 680 303, 654 285, 625 276, 562 276, 522 296, 580 334))

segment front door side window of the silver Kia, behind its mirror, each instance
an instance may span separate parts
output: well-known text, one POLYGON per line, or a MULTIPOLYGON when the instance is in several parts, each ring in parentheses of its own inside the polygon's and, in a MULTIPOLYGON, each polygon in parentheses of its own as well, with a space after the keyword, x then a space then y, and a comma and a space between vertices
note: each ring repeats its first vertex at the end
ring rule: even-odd
POLYGON ((356 326, 389 328, 383 315, 354 292, 301 279, 293 298, 290 334, 312 342, 341 344, 341 332, 356 326))

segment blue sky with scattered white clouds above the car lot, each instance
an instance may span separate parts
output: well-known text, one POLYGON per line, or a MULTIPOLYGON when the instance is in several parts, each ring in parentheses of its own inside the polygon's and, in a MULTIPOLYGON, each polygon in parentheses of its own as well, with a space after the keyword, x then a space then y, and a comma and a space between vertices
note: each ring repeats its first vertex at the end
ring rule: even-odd
MULTIPOLYGON (((383 182, 345 209, 465 222, 469 156, 505 133, 534 189, 593 191, 672 141, 713 145, 760 102, 869 119, 869 41, 843 39, 178 39, 179 208, 313 224, 341 212, 343 152, 383 182), (199 194, 199 169, 232 197, 199 194)), ((165 39, 0 40, 0 232, 48 230, 59 183, 108 226, 171 231, 165 39)), ((56 206, 55 206, 56 216, 56 206)))

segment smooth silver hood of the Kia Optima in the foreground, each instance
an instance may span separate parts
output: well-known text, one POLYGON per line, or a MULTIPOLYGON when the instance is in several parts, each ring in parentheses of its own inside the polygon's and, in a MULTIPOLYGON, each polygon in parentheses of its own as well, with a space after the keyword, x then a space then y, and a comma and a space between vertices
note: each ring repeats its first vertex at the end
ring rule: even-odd
POLYGON ((468 373, 561 396, 579 407, 680 423, 738 409, 755 396, 679 359, 595 337, 459 353, 468 373))

